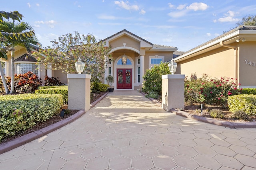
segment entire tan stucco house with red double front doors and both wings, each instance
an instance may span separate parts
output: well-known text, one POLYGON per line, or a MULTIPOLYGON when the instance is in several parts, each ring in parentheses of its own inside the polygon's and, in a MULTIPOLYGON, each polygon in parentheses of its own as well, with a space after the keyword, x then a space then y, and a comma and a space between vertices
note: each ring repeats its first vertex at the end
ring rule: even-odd
MULTIPOLYGON (((175 74, 190 76, 196 72, 198 78, 202 74, 208 74, 212 78, 236 78, 241 88, 256 88, 256 26, 241 25, 185 53, 177 51, 177 47, 150 43, 126 29, 102 41, 106 42, 106 46, 112 47, 110 53, 113 57, 104 77, 114 76, 116 90, 140 89, 146 69, 172 58, 178 63, 175 74)), ((42 79, 46 75, 54 76, 62 83, 68 83, 67 75, 61 70, 52 70, 50 64, 45 70, 44 66, 37 66, 36 61, 25 54, 24 48, 16 47, 16 73, 33 71, 42 79)), ((11 74, 9 61, 10 54, 6 61, 6 76, 11 74)), ((105 79, 102 82, 107 84, 105 79)))

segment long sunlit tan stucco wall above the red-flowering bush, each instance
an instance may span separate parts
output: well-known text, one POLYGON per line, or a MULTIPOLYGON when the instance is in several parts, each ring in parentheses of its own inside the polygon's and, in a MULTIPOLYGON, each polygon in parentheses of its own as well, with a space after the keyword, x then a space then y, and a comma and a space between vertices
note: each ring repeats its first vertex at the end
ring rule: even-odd
POLYGON ((222 76, 235 78, 234 58, 234 49, 221 47, 177 62, 178 68, 175 74, 185 74, 189 78, 196 72, 198 78, 202 77, 202 74, 208 74, 212 78, 222 76))

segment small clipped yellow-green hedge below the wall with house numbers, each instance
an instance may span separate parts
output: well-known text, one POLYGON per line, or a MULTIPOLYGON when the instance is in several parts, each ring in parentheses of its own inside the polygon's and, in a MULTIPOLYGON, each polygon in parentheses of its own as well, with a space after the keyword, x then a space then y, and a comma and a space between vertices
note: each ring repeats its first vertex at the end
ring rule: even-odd
POLYGON ((231 112, 244 111, 248 115, 256 115, 256 95, 240 94, 228 97, 228 107, 231 112))

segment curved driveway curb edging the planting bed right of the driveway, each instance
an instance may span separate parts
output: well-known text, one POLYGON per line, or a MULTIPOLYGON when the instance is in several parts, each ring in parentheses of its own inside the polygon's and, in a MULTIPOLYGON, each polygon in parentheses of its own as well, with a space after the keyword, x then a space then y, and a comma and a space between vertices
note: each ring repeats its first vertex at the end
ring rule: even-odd
POLYGON ((230 127, 230 128, 256 128, 256 122, 231 122, 231 121, 222 121, 217 119, 212 119, 209 117, 204 116, 198 116, 193 115, 184 111, 176 110, 176 109, 170 109, 170 112, 175 113, 176 115, 180 115, 183 117, 187 117, 189 119, 194 119, 197 121, 202 121, 205 123, 211 123, 214 125, 224 126, 224 127, 230 127))

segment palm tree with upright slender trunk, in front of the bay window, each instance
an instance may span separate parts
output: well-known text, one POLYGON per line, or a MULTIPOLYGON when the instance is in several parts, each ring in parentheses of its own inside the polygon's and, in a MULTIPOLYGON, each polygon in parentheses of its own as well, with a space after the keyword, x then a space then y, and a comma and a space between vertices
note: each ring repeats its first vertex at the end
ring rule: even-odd
POLYGON ((2 35, 5 37, 6 41, 4 41, 5 45, 11 47, 11 62, 12 62, 12 81, 11 81, 11 90, 10 93, 14 92, 14 52, 16 46, 25 47, 28 53, 31 52, 30 49, 34 47, 41 47, 41 44, 38 42, 38 39, 35 36, 35 33, 32 27, 26 23, 14 23, 9 21, 0 22, 0 31, 2 35))

